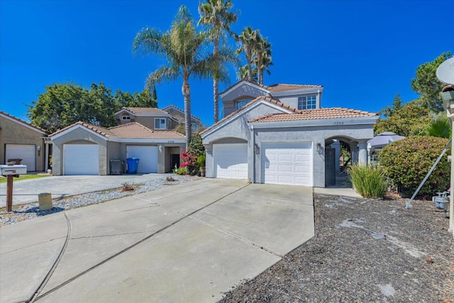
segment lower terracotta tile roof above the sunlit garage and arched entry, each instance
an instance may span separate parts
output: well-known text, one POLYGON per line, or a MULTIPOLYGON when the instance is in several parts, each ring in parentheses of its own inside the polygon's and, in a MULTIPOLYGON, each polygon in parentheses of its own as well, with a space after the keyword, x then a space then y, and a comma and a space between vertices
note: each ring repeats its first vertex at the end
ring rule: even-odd
POLYGON ((278 122, 278 121, 298 121, 298 120, 319 120, 336 118, 355 118, 365 116, 377 116, 369 111, 358 111, 355 109, 343 109, 341 107, 331 107, 328 109, 307 109, 300 111, 299 114, 272 114, 261 116, 248 122, 278 122))

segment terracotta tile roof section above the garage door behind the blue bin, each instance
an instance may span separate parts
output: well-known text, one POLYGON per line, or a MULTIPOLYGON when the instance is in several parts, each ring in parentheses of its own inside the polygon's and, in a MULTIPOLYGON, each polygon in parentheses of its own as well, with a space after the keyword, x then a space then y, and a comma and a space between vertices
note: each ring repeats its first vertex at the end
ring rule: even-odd
POLYGON ((127 123, 109 128, 118 138, 129 139, 184 139, 184 135, 177 131, 152 131, 138 122, 127 123))

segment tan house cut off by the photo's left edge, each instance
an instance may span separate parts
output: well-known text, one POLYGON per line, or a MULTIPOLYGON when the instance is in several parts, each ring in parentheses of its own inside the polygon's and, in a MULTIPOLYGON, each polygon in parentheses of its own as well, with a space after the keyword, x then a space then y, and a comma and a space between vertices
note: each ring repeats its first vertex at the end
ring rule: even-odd
POLYGON ((45 130, 0 111, 0 164, 22 159, 29 172, 45 171, 49 145, 45 130))

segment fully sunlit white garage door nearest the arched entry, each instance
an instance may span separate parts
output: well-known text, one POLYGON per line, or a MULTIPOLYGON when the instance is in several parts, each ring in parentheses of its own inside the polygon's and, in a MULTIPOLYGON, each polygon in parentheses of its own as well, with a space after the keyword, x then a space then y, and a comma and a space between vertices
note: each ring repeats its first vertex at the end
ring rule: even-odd
POLYGON ((312 143, 262 144, 262 183, 313 186, 312 143))

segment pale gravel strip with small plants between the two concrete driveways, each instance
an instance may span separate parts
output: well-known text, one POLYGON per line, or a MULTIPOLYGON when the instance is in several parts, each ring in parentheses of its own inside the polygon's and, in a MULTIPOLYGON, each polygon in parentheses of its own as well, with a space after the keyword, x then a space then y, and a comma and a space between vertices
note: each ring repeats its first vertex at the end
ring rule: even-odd
POLYGON ((109 189, 101 192, 90 192, 61 199, 53 199, 52 204, 54 207, 48 211, 40 211, 38 202, 13 206, 13 211, 10 213, 6 212, 6 208, 4 207, 0 210, 0 226, 15 224, 17 222, 34 219, 38 216, 53 214, 58 211, 131 196, 132 194, 139 194, 140 192, 150 192, 151 190, 160 189, 161 187, 190 182, 196 179, 196 177, 186 175, 173 175, 172 177, 175 181, 167 181, 166 178, 163 178, 162 180, 152 180, 143 184, 132 184, 134 187, 133 191, 122 192, 121 189, 109 189))

